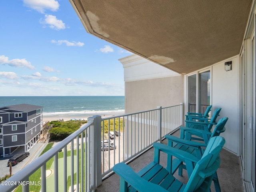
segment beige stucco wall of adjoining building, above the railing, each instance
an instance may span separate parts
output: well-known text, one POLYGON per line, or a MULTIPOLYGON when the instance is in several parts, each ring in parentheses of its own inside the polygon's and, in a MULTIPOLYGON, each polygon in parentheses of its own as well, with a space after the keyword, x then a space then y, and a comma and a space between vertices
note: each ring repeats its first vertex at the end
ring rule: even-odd
POLYGON ((184 100, 184 76, 125 82, 125 112, 177 105, 184 100))

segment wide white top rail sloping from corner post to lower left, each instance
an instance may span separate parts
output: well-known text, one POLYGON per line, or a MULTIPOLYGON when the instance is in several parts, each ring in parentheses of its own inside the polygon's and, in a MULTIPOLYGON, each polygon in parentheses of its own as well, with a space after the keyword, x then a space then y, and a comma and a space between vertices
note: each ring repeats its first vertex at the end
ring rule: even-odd
MULTIPOLYGON (((60 143, 58 143, 56 146, 42 154, 42 156, 38 157, 36 160, 32 161, 29 166, 25 166, 22 170, 18 172, 18 174, 14 174, 11 176, 7 181, 24 181, 28 176, 33 174, 36 170, 38 170, 43 164, 45 164, 50 158, 52 158, 55 154, 57 154, 62 148, 67 146, 72 140, 74 140, 80 133, 82 133, 84 130, 86 130, 90 125, 92 125, 92 122, 88 122, 81 126, 78 130, 76 130, 73 134, 62 140, 60 143)), ((4 191, 7 191, 6 189, 12 190, 16 188, 16 186, 0 186, 2 189, 4 188, 4 191)))

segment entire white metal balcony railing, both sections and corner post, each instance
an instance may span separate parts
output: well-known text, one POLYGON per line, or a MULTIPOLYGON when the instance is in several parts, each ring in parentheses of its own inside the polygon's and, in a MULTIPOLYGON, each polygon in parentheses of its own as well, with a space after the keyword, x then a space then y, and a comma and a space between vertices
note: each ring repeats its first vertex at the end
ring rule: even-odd
POLYGON ((18 185, 23 192, 35 186, 42 192, 95 191, 115 164, 131 161, 182 124, 183 104, 106 118, 90 117, 87 124, 1 182, 0 191, 10 192, 18 185), (36 180, 38 169, 40 178, 36 180))

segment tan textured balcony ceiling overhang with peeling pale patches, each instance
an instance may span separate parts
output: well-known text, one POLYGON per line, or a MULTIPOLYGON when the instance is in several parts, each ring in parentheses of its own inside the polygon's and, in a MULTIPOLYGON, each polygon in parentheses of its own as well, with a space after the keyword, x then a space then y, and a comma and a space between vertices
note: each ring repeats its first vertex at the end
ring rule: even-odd
POLYGON ((252 0, 70 0, 86 31, 180 74, 239 54, 252 0))

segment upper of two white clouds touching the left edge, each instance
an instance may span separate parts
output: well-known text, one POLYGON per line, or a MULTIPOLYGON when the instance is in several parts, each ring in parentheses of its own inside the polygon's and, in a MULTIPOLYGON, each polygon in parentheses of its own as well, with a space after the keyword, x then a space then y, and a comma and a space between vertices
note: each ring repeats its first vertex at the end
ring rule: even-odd
POLYGON ((0 55, 0 64, 8 64, 9 66, 14 66, 14 67, 26 67, 26 68, 29 68, 29 69, 34 69, 35 68, 26 59, 12 59, 12 60, 9 60, 9 58, 4 56, 4 55, 0 55))

